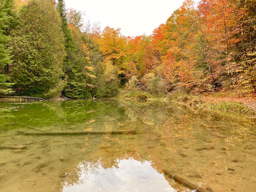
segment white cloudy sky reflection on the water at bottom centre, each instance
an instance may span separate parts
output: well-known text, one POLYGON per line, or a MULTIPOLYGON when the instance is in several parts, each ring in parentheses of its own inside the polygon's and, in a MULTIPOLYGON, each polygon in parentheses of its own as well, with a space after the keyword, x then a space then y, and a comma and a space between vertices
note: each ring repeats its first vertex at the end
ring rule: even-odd
MULTIPOLYGON (((119 161, 118 167, 104 169, 101 165, 97 173, 88 174, 88 169, 81 163, 81 184, 64 186, 63 192, 67 191, 169 191, 174 192, 163 174, 159 174, 151 163, 141 163, 134 159, 123 159, 119 161), (89 178, 88 178, 89 176, 89 178)), ((87 165, 86 165, 87 166, 87 165)), ((69 178, 66 178, 69 179, 69 178)))

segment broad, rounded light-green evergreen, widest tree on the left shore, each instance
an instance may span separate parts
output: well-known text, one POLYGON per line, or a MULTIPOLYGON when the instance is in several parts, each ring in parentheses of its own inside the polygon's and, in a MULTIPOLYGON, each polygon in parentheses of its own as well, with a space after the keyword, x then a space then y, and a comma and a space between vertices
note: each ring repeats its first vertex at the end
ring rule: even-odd
POLYGON ((13 79, 20 95, 59 96, 65 85, 61 20, 51 0, 31 0, 20 9, 13 40, 13 79))

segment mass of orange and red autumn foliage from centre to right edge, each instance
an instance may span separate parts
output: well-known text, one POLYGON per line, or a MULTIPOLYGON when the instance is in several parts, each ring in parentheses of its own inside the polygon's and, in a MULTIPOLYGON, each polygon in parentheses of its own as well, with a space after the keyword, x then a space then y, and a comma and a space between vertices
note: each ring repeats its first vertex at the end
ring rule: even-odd
POLYGON ((150 36, 125 40, 120 29, 105 28, 100 49, 127 80, 150 73, 170 90, 244 95, 255 93, 255 21, 253 0, 187 0, 150 36))

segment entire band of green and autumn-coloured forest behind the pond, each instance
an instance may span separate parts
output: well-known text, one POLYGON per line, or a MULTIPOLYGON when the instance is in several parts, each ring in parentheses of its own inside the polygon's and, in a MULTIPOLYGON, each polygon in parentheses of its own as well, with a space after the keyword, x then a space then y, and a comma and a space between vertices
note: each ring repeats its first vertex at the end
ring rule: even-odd
POLYGON ((64 0, 0 0, 0 95, 254 95, 255 10, 255 0, 186 0, 151 35, 126 37, 64 0))

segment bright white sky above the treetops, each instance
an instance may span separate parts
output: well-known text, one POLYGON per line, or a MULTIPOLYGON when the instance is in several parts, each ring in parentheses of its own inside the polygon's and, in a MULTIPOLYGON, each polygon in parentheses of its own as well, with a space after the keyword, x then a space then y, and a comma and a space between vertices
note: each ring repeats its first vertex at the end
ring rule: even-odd
MULTIPOLYGON (((138 36, 152 34, 165 23, 184 0, 65 0, 67 8, 86 12, 91 22, 99 21, 101 29, 106 26, 121 28, 122 35, 138 36)), ((86 20, 86 19, 84 19, 86 20)))

